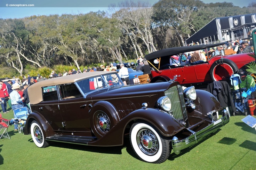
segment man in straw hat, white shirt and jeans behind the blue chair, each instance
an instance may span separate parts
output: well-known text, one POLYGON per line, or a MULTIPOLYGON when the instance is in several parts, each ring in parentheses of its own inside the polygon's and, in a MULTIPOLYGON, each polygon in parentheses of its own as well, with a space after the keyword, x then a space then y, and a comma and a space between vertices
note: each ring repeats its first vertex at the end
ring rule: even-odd
MULTIPOLYGON (((10 93, 12 110, 23 107, 22 100, 24 100, 24 97, 20 98, 20 94, 18 93, 19 88, 20 88, 20 85, 17 83, 12 85, 13 91, 10 93)), ((17 131, 17 130, 18 130, 18 125, 14 124, 14 131, 17 131)))

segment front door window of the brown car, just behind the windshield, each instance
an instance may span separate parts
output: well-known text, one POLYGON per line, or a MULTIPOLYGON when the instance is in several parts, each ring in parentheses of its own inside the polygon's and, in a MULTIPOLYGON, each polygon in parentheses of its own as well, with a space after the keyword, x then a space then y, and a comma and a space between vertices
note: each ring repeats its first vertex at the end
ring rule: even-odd
POLYGON ((59 87, 61 99, 71 99, 82 96, 82 94, 80 93, 80 91, 74 83, 59 85, 59 87))

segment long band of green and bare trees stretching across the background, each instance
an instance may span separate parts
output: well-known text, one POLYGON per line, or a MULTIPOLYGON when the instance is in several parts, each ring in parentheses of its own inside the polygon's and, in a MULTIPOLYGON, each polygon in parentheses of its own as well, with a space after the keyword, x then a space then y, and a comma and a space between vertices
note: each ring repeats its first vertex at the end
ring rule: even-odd
POLYGON ((0 19, 1 63, 20 75, 24 65, 51 68, 123 62, 155 50, 184 46, 184 40, 216 17, 255 13, 255 3, 205 4, 199 0, 126 2, 115 12, 0 19))

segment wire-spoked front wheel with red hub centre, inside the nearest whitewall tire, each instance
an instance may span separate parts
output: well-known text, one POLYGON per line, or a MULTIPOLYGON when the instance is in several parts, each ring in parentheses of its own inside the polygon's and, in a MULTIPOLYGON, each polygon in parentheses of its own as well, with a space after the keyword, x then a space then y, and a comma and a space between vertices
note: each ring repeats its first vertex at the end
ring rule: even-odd
POLYGON ((154 133, 148 129, 141 129, 137 135, 140 150, 147 155, 154 155, 158 151, 158 141, 154 133))

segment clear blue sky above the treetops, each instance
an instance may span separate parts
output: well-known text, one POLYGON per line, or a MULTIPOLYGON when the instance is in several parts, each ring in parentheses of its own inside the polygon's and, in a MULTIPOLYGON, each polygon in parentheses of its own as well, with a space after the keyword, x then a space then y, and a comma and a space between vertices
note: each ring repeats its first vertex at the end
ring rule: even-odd
MULTIPOLYGON (((24 18, 32 15, 79 14, 90 11, 107 11, 108 6, 124 0, 1 0, 0 18, 24 18), (8 7, 6 7, 8 4, 8 7), (36 7, 10 7, 10 4, 34 4, 36 7)), ((141 1, 141 0, 140 0, 141 1)), ((223 0, 202 0, 204 3, 224 2, 223 0)), ((147 0, 150 5, 158 0, 147 0)), ((247 6, 254 0, 226 0, 236 6, 247 6)))

